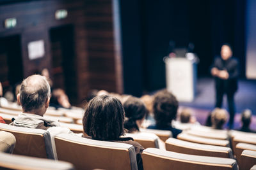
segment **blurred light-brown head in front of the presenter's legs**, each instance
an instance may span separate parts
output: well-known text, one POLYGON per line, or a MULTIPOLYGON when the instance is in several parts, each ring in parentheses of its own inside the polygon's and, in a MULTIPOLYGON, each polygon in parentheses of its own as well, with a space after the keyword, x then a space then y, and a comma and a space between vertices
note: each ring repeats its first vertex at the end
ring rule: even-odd
POLYGON ((214 129, 223 129, 223 125, 227 121, 227 111, 220 108, 215 108, 211 115, 212 127, 214 129))

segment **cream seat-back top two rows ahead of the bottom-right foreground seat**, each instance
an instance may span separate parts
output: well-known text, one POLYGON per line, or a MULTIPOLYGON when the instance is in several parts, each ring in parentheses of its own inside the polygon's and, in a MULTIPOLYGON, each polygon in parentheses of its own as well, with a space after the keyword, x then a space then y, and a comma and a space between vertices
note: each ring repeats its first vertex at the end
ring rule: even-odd
POLYGON ((216 145, 216 146, 227 146, 229 147, 229 141, 227 140, 220 140, 220 139, 209 139, 209 138, 202 138, 198 136, 192 136, 190 134, 181 133, 177 136, 178 139, 184 140, 184 141, 190 141, 194 143, 202 143, 206 145, 216 145))

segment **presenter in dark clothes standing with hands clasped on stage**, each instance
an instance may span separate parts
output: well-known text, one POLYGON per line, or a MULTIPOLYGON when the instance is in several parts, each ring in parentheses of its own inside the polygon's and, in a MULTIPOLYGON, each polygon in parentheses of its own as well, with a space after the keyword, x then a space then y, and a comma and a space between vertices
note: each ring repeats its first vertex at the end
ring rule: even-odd
POLYGON ((232 129, 236 113, 234 95, 237 91, 237 78, 239 76, 238 60, 232 57, 232 48, 228 44, 221 46, 221 57, 214 59, 211 74, 215 77, 216 108, 221 108, 224 94, 228 99, 230 114, 229 128, 232 129))

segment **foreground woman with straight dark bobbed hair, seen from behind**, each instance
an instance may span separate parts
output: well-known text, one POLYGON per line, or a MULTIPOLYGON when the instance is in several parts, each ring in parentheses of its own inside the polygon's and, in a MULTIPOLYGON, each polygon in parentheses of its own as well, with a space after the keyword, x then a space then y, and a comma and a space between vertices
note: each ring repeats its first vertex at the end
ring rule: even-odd
POLYGON ((141 159, 143 146, 132 138, 120 138, 124 135, 124 108, 118 99, 106 95, 94 97, 85 109, 83 127, 84 132, 88 134, 84 138, 133 145, 138 169, 143 169, 141 159))

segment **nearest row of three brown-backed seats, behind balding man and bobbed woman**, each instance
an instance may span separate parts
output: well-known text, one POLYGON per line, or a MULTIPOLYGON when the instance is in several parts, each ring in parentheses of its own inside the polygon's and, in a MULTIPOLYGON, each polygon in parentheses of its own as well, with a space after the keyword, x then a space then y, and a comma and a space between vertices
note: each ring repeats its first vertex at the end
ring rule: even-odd
MULTIPOLYGON (((49 141, 47 131, 22 127, 14 128, 16 131, 13 130, 11 125, 1 124, 1 129, 9 129, 17 139, 17 146, 13 153, 52 159, 51 141, 49 141), (24 133, 25 130, 26 133, 24 133), (35 133, 33 134, 32 131, 35 131, 35 133), (23 135, 18 136, 18 134, 23 135), (23 143, 22 146, 22 139, 25 139, 28 143, 23 143)), ((58 160, 71 162, 76 169, 137 169, 135 150, 132 145, 79 138, 70 134, 59 134, 54 141, 58 160)), ((152 169, 152 167, 154 169, 156 164, 163 168, 182 164, 182 169, 188 169, 190 166, 204 168, 212 166, 213 169, 228 166, 228 169, 236 169, 237 166, 236 160, 233 159, 188 155, 157 148, 144 150, 142 159, 144 169, 152 169), (156 164, 148 166, 152 164, 152 159, 156 164)))

